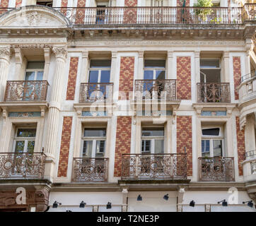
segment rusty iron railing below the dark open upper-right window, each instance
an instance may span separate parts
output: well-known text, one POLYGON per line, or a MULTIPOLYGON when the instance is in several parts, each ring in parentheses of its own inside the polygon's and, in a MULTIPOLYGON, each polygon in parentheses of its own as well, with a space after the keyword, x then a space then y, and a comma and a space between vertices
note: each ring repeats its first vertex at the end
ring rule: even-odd
POLYGON ((231 102, 229 83, 197 83, 197 102, 231 102))

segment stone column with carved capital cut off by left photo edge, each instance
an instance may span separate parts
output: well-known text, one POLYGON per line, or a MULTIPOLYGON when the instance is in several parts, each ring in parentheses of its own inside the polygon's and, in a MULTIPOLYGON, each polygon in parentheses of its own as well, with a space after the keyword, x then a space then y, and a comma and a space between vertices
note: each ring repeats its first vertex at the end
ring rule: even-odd
POLYGON ((4 90, 8 76, 8 67, 10 64, 11 49, 9 46, 0 47, 0 101, 4 100, 4 90))

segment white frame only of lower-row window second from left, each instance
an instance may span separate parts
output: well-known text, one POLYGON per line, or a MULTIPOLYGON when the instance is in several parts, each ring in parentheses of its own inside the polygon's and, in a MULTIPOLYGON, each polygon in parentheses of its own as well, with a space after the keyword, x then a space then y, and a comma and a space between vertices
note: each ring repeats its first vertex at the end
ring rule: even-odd
POLYGON ((93 141, 92 153, 91 153, 91 157, 88 156, 89 158, 95 158, 96 153, 100 153, 100 152, 96 152, 97 141, 105 141, 104 152, 103 152, 103 157, 105 157, 106 141, 107 141, 107 128, 104 128, 106 130, 106 136, 83 136, 85 129, 103 129, 103 127, 98 127, 98 128, 97 127, 83 127, 80 156, 83 157, 83 141, 93 141))

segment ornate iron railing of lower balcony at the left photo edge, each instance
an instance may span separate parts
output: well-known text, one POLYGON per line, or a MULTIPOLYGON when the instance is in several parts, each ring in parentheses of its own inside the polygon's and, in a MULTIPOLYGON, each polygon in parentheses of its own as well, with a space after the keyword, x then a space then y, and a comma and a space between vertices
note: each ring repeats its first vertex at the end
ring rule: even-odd
POLYGON ((43 179, 44 153, 0 153, 0 179, 43 179))

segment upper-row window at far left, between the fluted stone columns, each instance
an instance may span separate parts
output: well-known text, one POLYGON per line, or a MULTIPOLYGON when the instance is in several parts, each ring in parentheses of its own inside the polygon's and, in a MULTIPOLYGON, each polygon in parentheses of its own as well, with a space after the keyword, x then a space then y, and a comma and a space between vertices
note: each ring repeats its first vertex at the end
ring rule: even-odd
POLYGON ((42 81, 44 68, 45 62, 43 61, 28 61, 25 70, 25 81, 42 81))

